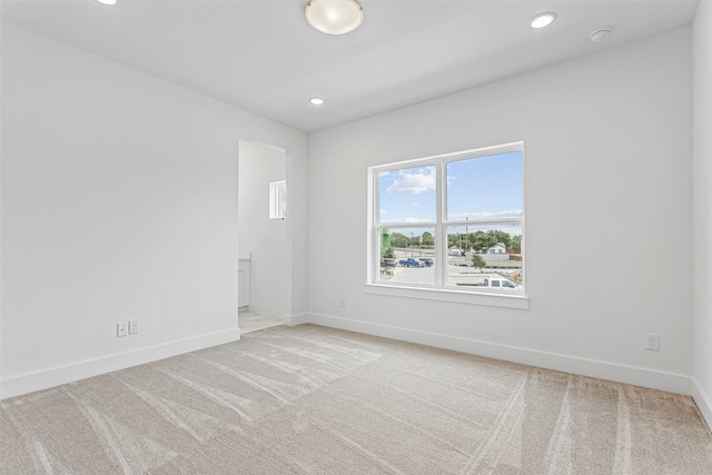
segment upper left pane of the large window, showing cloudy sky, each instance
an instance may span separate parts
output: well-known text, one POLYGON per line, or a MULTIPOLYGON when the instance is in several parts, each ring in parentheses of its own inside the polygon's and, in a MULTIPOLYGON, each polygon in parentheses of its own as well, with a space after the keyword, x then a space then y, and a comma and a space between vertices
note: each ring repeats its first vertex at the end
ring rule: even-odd
POLYGON ((435 221, 435 165, 378 174, 378 221, 435 221))

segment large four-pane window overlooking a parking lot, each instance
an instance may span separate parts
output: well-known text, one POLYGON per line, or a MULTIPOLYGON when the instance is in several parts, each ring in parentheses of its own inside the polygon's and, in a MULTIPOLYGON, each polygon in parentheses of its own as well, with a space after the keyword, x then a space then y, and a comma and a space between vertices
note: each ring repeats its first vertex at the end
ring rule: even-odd
POLYGON ((524 294, 523 144, 369 168, 369 284, 524 294))

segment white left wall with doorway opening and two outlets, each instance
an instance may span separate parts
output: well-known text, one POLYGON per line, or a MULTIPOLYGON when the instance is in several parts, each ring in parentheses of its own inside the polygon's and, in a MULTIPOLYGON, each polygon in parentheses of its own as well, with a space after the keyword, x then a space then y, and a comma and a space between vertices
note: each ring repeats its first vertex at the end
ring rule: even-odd
POLYGON ((304 132, 3 22, 2 139, 2 397, 239 338, 240 139, 289 151, 306 309, 304 132))

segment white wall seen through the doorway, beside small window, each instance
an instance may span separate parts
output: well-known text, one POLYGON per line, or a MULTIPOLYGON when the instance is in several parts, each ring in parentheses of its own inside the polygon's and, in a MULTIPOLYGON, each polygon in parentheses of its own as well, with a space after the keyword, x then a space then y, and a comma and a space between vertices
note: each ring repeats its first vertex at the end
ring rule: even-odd
POLYGON ((251 256, 250 311, 283 317, 287 221, 269 219, 269 184, 286 179, 285 152, 243 141, 239 154, 238 243, 240 257, 251 256))

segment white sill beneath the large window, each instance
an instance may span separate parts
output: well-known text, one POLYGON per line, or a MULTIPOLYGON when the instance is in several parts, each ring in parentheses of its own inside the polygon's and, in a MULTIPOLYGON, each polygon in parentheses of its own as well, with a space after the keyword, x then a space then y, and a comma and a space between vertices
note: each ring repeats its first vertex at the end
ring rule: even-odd
POLYGON ((365 284, 364 290, 366 294, 388 295, 392 297, 423 298, 426 300, 487 305, 491 307, 517 308, 521 310, 528 310, 530 308, 530 298, 525 295, 485 294, 444 288, 399 287, 382 284, 365 284))

